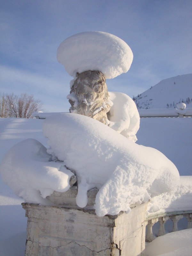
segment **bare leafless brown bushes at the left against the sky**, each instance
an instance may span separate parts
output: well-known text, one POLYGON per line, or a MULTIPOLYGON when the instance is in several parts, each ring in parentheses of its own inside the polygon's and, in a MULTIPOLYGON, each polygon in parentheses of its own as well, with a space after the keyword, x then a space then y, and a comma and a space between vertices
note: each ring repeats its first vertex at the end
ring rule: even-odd
POLYGON ((42 102, 35 100, 33 95, 22 93, 20 96, 1 94, 0 97, 0 117, 22 117, 32 118, 32 113, 42 110, 42 102))

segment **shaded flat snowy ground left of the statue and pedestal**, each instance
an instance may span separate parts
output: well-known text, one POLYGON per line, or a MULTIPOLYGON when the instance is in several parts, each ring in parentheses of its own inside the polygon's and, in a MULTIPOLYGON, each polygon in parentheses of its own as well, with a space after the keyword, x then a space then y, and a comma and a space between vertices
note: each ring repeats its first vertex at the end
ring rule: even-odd
MULTIPOLYGON (((34 138, 45 145, 42 120, 0 118, 0 161, 17 142, 34 138)), ((0 179, 0 255, 21 256, 25 253, 27 218, 21 207, 22 199, 0 179), (12 246, 10 246, 12 244, 12 246)))

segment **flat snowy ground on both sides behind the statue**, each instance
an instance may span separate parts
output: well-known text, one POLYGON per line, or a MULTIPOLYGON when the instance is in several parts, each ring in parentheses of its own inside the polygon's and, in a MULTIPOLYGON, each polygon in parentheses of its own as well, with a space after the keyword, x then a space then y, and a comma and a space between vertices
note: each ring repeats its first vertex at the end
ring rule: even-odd
MULTIPOLYGON (((42 122, 1 118, 0 161, 15 143, 24 139, 33 138, 46 146, 42 122)), ((191 134, 192 118, 142 118, 136 143, 160 150, 176 165, 180 175, 192 175, 191 134)), ((0 179, 0 255, 24 255, 27 218, 21 202, 0 179)))

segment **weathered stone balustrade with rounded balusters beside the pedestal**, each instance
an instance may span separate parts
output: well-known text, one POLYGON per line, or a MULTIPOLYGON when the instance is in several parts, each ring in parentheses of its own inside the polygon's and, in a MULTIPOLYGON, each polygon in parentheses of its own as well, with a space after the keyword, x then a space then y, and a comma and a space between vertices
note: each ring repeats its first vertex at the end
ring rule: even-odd
POLYGON ((164 212, 153 215, 148 215, 146 218, 147 234, 145 236, 146 242, 152 242, 155 239, 152 227, 156 222, 159 222, 159 232, 157 236, 165 235, 165 222, 172 220, 173 228, 171 232, 178 231, 178 221, 185 217, 188 220, 187 228, 192 228, 192 210, 177 211, 177 212, 164 212))

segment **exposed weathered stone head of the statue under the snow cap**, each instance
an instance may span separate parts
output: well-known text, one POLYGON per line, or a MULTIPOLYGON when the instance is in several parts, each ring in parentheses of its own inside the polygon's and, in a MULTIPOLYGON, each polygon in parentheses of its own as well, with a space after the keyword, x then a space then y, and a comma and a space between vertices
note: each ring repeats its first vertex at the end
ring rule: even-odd
POLYGON ((77 73, 68 95, 71 113, 92 117, 108 124, 107 113, 113 105, 109 100, 105 76, 100 71, 77 73))

